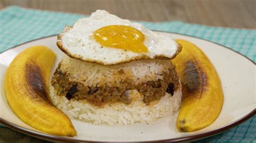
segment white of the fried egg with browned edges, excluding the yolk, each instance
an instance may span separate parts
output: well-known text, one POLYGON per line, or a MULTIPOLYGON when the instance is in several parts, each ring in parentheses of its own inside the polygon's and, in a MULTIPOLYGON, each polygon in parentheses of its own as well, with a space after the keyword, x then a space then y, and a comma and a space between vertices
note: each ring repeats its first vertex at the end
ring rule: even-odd
POLYGON ((142 24, 111 15, 105 10, 97 10, 89 18, 79 19, 70 30, 61 33, 60 37, 57 45, 61 45, 59 48, 66 54, 72 58, 102 65, 116 65, 132 60, 155 59, 157 57, 172 59, 178 49, 178 44, 173 39, 154 33, 142 24), (134 53, 124 49, 102 47, 93 39, 93 32, 108 25, 131 26, 141 31, 145 36, 143 44, 147 47, 148 52, 134 53))

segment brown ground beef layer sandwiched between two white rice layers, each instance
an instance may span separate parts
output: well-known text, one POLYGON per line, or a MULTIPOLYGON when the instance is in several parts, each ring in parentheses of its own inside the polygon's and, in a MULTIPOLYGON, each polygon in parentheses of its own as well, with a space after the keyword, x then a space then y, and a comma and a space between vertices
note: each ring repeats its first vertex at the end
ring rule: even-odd
POLYGON ((131 98, 125 94, 125 91, 131 89, 137 89, 144 96, 143 102, 149 104, 152 101, 158 101, 165 95, 165 92, 173 95, 174 91, 179 88, 179 78, 176 70, 169 69, 169 73, 163 73, 163 76, 164 80, 147 81, 137 85, 130 80, 126 80, 120 83, 119 87, 109 87, 107 85, 87 87, 82 83, 69 81, 68 75, 57 68, 51 83, 55 87, 57 95, 66 96, 68 99, 86 99, 86 101, 97 106, 118 101, 130 104, 131 98))

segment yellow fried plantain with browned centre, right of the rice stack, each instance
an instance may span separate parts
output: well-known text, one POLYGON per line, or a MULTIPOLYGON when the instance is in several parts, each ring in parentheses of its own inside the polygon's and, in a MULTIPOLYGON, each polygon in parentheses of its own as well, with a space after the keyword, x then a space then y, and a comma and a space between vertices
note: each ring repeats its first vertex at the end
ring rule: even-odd
POLYGON ((223 90, 217 71, 194 44, 176 40, 183 49, 173 59, 183 85, 183 97, 176 122, 181 132, 200 130, 213 123, 223 106, 223 90))

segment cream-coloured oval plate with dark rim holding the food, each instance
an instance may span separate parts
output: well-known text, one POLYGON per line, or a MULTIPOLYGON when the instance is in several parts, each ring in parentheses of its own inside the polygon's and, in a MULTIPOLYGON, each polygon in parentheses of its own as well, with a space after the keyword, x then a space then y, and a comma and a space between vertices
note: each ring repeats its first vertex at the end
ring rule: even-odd
POLYGON ((0 54, 0 122, 18 132, 51 141, 188 141, 208 137, 235 126, 250 118, 255 113, 255 65, 245 56, 227 47, 213 42, 176 33, 157 32, 173 39, 185 39, 200 47, 218 71, 224 91, 224 105, 220 116, 214 123, 196 132, 178 132, 178 115, 156 120, 151 124, 133 125, 92 125, 72 120, 77 130, 76 137, 61 137, 43 133, 26 125, 10 109, 6 102, 3 77, 6 68, 15 56, 25 48, 45 45, 57 54, 57 63, 64 55, 56 46, 57 36, 52 35, 26 42, 0 54))

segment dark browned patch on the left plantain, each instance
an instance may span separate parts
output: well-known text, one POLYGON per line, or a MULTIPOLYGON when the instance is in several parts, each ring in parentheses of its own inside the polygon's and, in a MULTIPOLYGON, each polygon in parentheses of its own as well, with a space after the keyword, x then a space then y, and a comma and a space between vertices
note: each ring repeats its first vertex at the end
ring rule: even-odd
POLYGON ((29 88, 33 91, 33 94, 30 94, 32 95, 32 98, 36 101, 46 101, 51 103, 48 99, 48 92, 46 91, 46 83, 42 76, 42 71, 36 62, 27 62, 25 73, 26 82, 28 83, 29 88))

